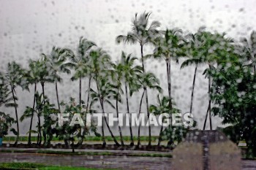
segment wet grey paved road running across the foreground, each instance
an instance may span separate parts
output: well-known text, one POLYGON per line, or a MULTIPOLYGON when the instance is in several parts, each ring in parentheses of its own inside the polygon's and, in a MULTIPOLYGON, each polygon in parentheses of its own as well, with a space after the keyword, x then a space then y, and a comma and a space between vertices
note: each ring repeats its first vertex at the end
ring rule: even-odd
MULTIPOLYGON (((171 158, 132 157, 126 155, 56 155, 42 153, 0 152, 0 162, 32 162, 60 166, 102 169, 171 169, 171 158)), ((242 161, 243 170, 256 169, 256 161, 242 161)))

